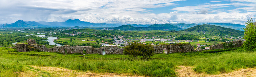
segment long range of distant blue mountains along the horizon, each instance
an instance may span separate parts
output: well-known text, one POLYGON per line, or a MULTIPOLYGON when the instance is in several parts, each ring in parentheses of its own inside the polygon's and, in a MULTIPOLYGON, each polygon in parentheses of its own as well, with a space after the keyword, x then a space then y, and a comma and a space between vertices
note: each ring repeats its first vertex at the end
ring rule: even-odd
MULTIPOLYGON (((22 21, 18 20, 14 23, 11 24, 3 24, 0 26, 0 28, 34 28, 34 27, 75 27, 75 26, 80 26, 80 27, 118 27, 114 29, 121 29, 123 28, 128 28, 130 30, 183 30, 183 29, 188 29, 197 25, 203 25, 205 23, 191 23, 191 24, 185 24, 185 23, 166 23, 166 24, 128 24, 129 26, 124 27, 124 25, 120 26, 117 24, 106 24, 106 23, 90 23, 87 21, 80 21, 79 19, 75 20, 67 20, 64 22, 45 22, 45 21, 22 21), (132 26, 132 27, 131 27, 132 26), (137 28, 135 28, 137 27, 137 28), (144 28, 143 28, 144 27, 144 28)), ((216 25, 216 26, 221 26, 225 28, 231 28, 235 30, 242 30, 242 28, 245 28, 245 25, 240 25, 240 24, 232 24, 232 23, 206 23, 210 25, 216 25)))

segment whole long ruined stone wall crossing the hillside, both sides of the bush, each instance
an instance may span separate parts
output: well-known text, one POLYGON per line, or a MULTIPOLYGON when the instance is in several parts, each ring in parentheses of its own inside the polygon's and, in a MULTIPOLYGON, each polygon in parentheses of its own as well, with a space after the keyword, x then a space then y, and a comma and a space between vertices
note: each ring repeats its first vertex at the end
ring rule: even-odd
MULTIPOLYGON (((59 52, 62 54, 73 54, 73 53, 79 53, 79 54, 101 54, 103 55, 103 52, 105 54, 123 54, 124 48, 118 48, 115 46, 106 46, 101 48, 93 48, 91 46, 57 46, 53 48, 47 48, 44 45, 37 45, 35 40, 28 39, 28 44, 15 44, 15 48, 18 52, 28 52, 28 51, 35 51, 40 50, 43 52, 59 52)), ((231 45, 232 47, 241 47, 243 45, 242 41, 233 41, 233 42, 225 42, 226 47, 230 47, 228 45, 231 45), (232 43, 232 45, 231 45, 232 43)), ((223 49, 223 44, 216 44, 211 45, 210 50, 212 49, 223 49)), ((195 50, 193 46, 190 44, 170 44, 170 45, 158 45, 153 46, 154 53, 155 54, 161 54, 163 53, 164 49, 167 50, 168 53, 177 53, 177 52, 197 52, 197 51, 203 51, 207 49, 197 49, 195 50)))

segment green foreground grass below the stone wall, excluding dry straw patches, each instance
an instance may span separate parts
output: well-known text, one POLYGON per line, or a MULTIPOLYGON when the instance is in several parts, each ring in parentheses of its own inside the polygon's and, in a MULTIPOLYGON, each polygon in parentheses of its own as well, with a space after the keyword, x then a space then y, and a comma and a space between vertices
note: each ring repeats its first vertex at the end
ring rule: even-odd
POLYGON ((194 72, 219 74, 239 68, 256 66, 256 52, 243 48, 218 53, 172 53, 155 54, 152 60, 135 60, 125 55, 58 54, 49 52, 15 52, 0 47, 0 77, 18 76, 15 72, 26 72, 31 65, 63 67, 92 73, 117 73, 153 77, 176 76, 177 66, 193 66, 194 72))

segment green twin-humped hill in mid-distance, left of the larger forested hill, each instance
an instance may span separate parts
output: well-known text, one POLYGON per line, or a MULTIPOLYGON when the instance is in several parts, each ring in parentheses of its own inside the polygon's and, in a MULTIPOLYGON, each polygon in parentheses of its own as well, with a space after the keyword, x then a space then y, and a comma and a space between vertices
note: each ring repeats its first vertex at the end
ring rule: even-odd
POLYGON ((158 25, 158 24, 153 24, 153 25, 150 25, 146 28, 151 28, 151 29, 162 29, 162 30, 182 30, 182 28, 180 27, 177 27, 177 26, 173 26, 171 24, 161 24, 161 25, 158 25))

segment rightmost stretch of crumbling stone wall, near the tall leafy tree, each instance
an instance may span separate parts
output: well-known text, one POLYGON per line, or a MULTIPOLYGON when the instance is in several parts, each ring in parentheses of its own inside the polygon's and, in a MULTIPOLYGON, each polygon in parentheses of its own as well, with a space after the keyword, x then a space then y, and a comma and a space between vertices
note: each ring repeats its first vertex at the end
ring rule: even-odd
POLYGON ((224 49, 224 48, 232 48, 232 47, 241 47, 243 46, 243 41, 239 40, 239 41, 228 41, 228 42, 224 42, 222 44, 216 44, 216 45, 211 45, 210 46, 210 50, 213 49, 224 49))

